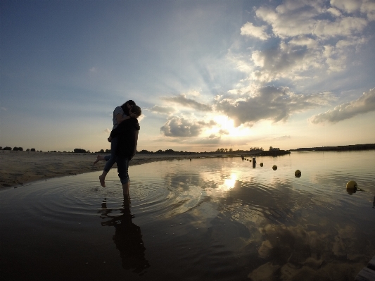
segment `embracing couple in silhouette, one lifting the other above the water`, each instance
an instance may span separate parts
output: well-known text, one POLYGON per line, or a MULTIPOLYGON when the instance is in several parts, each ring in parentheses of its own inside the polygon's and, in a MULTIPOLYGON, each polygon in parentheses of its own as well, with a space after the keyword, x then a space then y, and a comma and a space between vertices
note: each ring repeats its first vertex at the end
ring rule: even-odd
POLYGON ((136 106, 132 100, 115 108, 113 111, 113 129, 108 137, 110 155, 98 155, 94 162, 95 165, 98 161, 107 161, 103 173, 99 176, 102 187, 106 187, 106 175, 113 164, 117 163, 118 177, 120 177, 124 196, 129 196, 129 161, 136 154, 136 144, 140 130, 137 118, 141 114, 141 108, 136 106))

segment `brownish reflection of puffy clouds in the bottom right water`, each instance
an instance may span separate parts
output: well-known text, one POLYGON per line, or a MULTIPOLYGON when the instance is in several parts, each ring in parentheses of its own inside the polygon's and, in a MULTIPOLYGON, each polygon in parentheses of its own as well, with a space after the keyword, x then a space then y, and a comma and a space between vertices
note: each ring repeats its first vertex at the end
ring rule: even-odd
POLYGON ((349 224, 319 231, 266 225, 259 231, 263 240, 258 255, 265 263, 248 274, 253 281, 305 280, 306 276, 312 280, 353 280, 374 249, 373 243, 360 242, 360 232, 349 224))

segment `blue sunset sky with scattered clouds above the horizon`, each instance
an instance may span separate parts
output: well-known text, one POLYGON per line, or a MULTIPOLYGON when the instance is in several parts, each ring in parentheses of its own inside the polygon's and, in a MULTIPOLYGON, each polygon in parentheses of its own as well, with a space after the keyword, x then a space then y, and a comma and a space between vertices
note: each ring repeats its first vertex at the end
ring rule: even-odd
POLYGON ((138 150, 375 143, 374 0, 0 1, 0 146, 138 150))

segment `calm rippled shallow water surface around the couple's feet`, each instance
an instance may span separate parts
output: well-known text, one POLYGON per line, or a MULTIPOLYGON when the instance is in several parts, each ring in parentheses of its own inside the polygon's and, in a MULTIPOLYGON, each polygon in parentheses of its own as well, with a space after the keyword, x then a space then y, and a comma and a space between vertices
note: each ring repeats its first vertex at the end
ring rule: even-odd
POLYGON ((0 275, 353 280, 375 255, 375 151, 294 152, 257 162, 131 166, 130 206, 115 170, 106 188, 95 172, 1 191, 0 275), (348 180, 363 191, 348 194, 348 180))

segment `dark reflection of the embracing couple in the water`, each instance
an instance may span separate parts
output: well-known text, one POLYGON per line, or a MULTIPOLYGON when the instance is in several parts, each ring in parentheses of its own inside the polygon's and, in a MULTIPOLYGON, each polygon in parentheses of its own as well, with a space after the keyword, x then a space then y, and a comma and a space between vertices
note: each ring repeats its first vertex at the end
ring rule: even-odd
POLYGON ((141 227, 132 222, 134 216, 130 211, 129 196, 124 196, 123 208, 120 209, 120 215, 111 216, 113 210, 107 209, 106 199, 101 204, 103 213, 101 218, 110 218, 101 223, 103 226, 114 226, 115 235, 113 242, 117 250, 120 251, 122 268, 133 269, 134 273, 141 273, 142 270, 149 268, 150 264, 144 256, 146 250, 141 235, 141 227))

